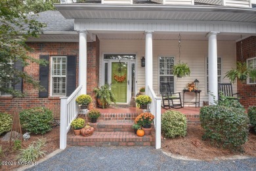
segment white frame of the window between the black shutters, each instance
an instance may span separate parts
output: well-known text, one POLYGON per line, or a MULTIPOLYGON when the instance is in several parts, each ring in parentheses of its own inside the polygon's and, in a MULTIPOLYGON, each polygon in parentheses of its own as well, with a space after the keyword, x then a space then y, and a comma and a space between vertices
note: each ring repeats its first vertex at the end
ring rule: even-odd
POLYGON ((67 93, 67 56, 51 56, 51 67, 50 67, 50 70, 51 70, 51 83, 50 83, 50 93, 51 93, 51 96, 56 96, 56 97, 61 97, 61 96, 66 96, 66 93, 67 93), (53 75, 53 58, 66 58, 66 75, 53 75), (60 95, 60 94, 53 94, 53 77, 66 77, 66 90, 65 90, 65 95, 60 95))

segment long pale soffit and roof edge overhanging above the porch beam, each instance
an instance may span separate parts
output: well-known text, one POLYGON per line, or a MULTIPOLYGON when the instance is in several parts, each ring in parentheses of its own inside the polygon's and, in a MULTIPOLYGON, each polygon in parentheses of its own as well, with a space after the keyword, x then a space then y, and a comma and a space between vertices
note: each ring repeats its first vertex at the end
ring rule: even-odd
POLYGON ((213 5, 55 5, 65 18, 201 20, 256 23, 256 10, 213 5))

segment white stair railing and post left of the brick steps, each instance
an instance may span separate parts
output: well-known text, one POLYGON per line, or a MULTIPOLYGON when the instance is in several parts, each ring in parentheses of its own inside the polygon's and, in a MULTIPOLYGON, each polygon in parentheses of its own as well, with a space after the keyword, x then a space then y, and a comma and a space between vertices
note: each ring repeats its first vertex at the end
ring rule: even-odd
POLYGON ((81 88, 80 85, 69 97, 60 98, 60 149, 66 149, 70 124, 78 115, 79 108, 75 99, 81 94, 81 88))

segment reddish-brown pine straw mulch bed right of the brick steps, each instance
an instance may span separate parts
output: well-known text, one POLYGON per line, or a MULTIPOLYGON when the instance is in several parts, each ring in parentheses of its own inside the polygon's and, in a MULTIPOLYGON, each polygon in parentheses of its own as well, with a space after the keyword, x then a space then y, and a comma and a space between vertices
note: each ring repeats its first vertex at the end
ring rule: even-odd
POLYGON ((227 149, 213 147, 209 141, 203 141, 203 128, 201 126, 188 126, 187 136, 184 138, 166 138, 162 144, 165 152, 182 155, 193 159, 211 161, 219 157, 232 157, 246 155, 256 157, 256 134, 249 132, 249 140, 244 147, 244 153, 234 153, 227 149))

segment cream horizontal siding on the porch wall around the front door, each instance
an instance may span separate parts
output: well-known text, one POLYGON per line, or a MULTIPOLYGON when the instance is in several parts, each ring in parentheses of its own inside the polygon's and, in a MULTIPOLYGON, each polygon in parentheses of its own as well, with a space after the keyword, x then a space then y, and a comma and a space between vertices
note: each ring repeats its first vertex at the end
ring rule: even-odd
MULTIPOLYGON (((154 35, 153 35, 154 36, 154 35)), ((159 94, 159 56, 175 56, 176 62, 179 60, 179 49, 177 41, 173 40, 153 40, 153 88, 156 94, 159 94)), ((218 56, 222 58, 223 77, 224 73, 236 66, 236 42, 235 41, 218 41, 218 56)), ((144 40, 100 40, 100 83, 102 83, 102 60, 104 53, 135 53, 137 54, 137 92, 144 86, 145 68, 140 66, 140 58, 145 54, 144 40)), ((175 91, 182 92, 187 83, 195 79, 200 81, 200 106, 203 101, 208 101, 206 93, 206 69, 205 60, 208 56, 208 41, 182 41, 181 42, 181 62, 188 63, 190 66, 190 76, 185 78, 175 78, 175 91)), ((228 79, 223 79, 223 83, 228 83, 228 79)), ((234 85, 236 92, 236 85, 234 85)), ((192 93, 186 93, 186 101, 194 100, 192 93)), ((189 104, 187 104, 189 105, 189 104)), ((190 105, 194 106, 194 104, 190 105)))

